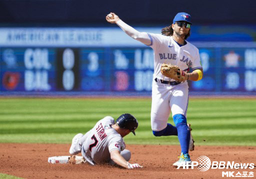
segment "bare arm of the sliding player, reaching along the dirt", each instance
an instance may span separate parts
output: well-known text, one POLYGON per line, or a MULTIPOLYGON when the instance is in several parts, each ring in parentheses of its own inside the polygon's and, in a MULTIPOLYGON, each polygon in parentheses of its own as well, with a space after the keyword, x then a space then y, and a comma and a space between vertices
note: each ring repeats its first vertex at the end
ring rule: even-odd
POLYGON ((130 164, 128 161, 126 161, 122 157, 122 155, 120 154, 119 150, 112 150, 110 152, 110 157, 111 157, 111 160, 113 160, 116 164, 118 164, 118 165, 120 165, 122 167, 125 167, 125 168, 132 169, 132 168, 141 168, 141 167, 143 167, 143 166, 140 166, 137 163, 130 164))

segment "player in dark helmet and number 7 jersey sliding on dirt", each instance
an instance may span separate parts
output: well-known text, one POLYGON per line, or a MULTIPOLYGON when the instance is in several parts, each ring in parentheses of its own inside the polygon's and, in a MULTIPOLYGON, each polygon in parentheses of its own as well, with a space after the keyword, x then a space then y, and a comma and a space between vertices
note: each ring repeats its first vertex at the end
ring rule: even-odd
POLYGON ((91 165, 99 163, 118 164, 125 168, 142 167, 128 162, 131 153, 125 149, 123 138, 138 126, 137 119, 129 113, 120 115, 114 122, 113 117, 105 116, 92 129, 76 134, 69 149, 71 155, 82 154, 91 165))

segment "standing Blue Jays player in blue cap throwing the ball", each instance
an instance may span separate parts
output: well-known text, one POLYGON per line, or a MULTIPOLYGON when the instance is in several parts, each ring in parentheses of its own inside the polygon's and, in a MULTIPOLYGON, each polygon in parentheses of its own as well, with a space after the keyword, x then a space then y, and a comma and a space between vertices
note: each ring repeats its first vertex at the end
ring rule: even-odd
POLYGON ((170 26, 162 28, 162 34, 139 32, 124 23, 116 14, 110 13, 106 20, 116 23, 127 35, 150 46, 154 50, 154 74, 152 80, 151 128, 155 136, 177 135, 181 146, 179 160, 173 163, 190 163, 188 150, 193 150, 193 139, 186 122, 188 106, 187 80, 200 80, 202 66, 198 49, 186 41, 190 35, 190 15, 177 13, 170 26), (167 79, 161 74, 162 63, 177 65, 184 75, 181 82, 167 79), (189 68, 192 69, 191 72, 189 68), (172 113, 175 126, 167 123, 172 113))

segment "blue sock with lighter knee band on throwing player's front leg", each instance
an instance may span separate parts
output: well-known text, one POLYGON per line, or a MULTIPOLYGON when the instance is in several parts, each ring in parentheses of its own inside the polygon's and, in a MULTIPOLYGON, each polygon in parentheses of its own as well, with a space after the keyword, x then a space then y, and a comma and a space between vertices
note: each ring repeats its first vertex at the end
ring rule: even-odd
POLYGON ((186 117, 182 114, 173 115, 173 121, 177 127, 178 140, 183 154, 188 153, 190 130, 186 124, 186 117))

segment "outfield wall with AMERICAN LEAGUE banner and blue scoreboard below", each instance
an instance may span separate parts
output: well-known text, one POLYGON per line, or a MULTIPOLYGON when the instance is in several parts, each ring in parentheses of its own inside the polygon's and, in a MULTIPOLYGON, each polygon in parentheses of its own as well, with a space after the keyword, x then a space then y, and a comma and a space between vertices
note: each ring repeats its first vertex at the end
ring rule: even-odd
MULTIPOLYGON (((0 34, 1 95, 151 93, 153 51, 119 28, 16 27, 0 34)), ((192 43, 204 76, 190 81, 191 92, 256 93, 255 42, 192 43)))

